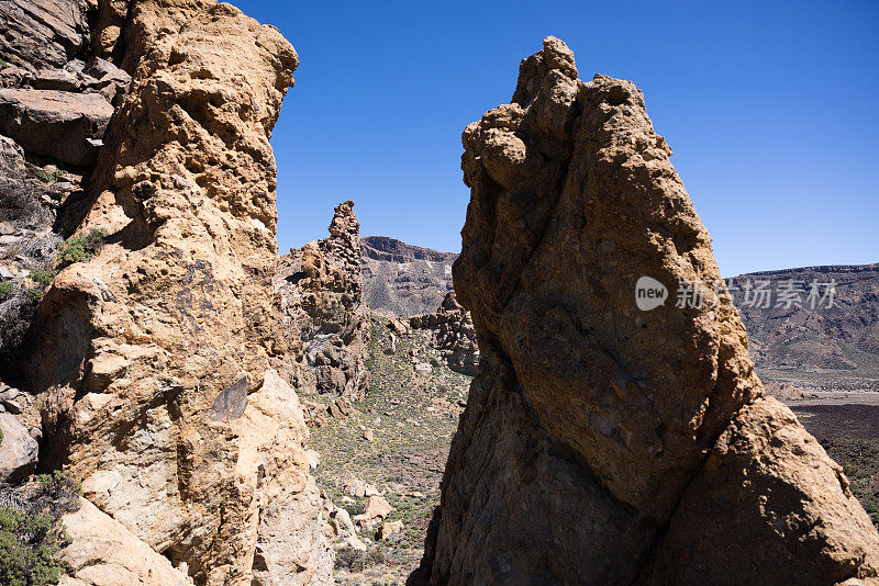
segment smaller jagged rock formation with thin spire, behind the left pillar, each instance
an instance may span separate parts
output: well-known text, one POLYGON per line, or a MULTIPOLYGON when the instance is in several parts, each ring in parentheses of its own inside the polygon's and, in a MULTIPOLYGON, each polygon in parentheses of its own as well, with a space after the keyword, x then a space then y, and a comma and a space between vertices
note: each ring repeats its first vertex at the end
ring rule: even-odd
POLYGON ((360 224, 338 204, 330 237, 283 255, 275 273, 277 368, 298 390, 359 398, 366 392, 369 315, 363 302, 360 224))

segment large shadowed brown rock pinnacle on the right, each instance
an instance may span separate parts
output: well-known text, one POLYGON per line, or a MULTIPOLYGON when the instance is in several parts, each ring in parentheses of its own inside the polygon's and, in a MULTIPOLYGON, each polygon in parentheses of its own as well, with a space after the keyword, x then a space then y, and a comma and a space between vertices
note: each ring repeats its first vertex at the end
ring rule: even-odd
POLYGON ((877 576, 879 534, 841 467, 764 396, 728 298, 636 304, 642 277, 671 292, 720 278, 641 91, 578 80, 548 37, 464 146, 454 279, 479 375, 412 582, 877 576))

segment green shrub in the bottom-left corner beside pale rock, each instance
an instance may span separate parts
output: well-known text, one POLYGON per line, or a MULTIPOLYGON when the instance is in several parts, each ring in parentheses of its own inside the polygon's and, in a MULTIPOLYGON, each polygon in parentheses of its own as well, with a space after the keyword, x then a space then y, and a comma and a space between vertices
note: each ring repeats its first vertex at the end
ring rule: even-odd
POLYGON ((66 473, 43 474, 0 505, 0 584, 43 586, 60 578, 58 552, 70 544, 60 518, 79 507, 81 488, 66 473))

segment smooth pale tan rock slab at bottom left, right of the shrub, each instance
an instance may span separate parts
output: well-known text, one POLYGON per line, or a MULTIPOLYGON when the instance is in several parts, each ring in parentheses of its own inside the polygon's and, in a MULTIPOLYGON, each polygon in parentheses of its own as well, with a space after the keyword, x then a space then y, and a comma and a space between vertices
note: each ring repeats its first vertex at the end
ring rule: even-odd
POLYGON ((66 568, 59 586, 186 586, 192 582, 125 526, 81 499, 62 518, 73 542, 62 550, 66 568))

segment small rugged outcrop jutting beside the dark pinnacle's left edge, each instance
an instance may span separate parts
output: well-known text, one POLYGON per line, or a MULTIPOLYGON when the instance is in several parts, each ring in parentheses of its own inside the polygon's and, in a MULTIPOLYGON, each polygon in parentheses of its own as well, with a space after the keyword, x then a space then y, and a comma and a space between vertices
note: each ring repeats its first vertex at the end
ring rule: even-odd
POLYGON ((433 330, 431 343, 439 350, 448 368, 476 376, 479 371, 479 347, 470 312, 455 297, 455 292, 446 294, 436 313, 413 315, 409 318, 413 328, 433 330))

